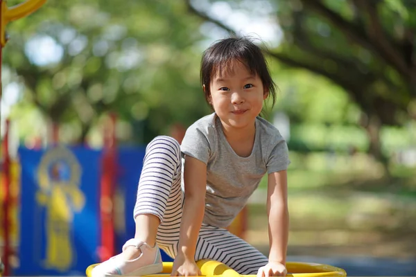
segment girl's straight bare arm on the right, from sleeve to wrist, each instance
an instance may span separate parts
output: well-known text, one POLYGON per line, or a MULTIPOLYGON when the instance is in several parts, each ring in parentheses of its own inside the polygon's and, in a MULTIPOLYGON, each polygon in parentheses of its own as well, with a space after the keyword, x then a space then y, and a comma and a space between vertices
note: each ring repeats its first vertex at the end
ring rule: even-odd
POLYGON ((269 262, 279 262, 285 267, 289 233, 287 183, 286 170, 273 172, 268 175, 269 262))

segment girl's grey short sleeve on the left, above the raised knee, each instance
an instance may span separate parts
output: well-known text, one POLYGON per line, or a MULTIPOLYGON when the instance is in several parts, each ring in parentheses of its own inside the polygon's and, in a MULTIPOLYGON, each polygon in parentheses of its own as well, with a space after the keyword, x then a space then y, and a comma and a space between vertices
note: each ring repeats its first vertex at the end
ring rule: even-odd
POLYGON ((191 125, 180 145, 182 155, 188 155, 207 164, 210 147, 208 132, 200 125, 191 125))

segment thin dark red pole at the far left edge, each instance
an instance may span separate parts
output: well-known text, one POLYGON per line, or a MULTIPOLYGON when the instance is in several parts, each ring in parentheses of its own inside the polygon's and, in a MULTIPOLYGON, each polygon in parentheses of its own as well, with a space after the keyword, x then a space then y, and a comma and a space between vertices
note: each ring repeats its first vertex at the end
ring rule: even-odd
POLYGON ((8 152, 9 145, 9 129, 10 122, 6 120, 6 133, 3 139, 3 230, 4 230, 4 251, 3 251, 3 263, 4 263, 4 275, 10 275, 10 153, 8 152))

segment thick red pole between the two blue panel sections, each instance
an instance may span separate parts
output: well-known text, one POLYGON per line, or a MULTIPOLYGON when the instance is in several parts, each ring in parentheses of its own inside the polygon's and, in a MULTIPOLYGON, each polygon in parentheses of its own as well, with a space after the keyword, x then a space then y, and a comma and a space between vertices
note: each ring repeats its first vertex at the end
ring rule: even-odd
POLYGON ((103 175, 101 177, 101 261, 114 256, 113 195, 116 175, 116 116, 104 127, 103 175))

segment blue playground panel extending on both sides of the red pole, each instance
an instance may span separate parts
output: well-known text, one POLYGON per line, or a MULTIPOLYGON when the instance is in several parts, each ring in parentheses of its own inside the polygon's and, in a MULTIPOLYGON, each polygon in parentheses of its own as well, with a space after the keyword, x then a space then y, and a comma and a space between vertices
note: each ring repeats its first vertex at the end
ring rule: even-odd
MULTIPOLYGON (((145 148, 121 147, 117 152, 119 202, 114 205, 119 214, 114 220, 114 240, 119 253, 135 235, 132 211, 145 148)), ((84 275, 89 265, 99 262, 102 152, 81 147, 60 148, 60 152, 20 148, 19 160, 20 267, 12 274, 84 275)), ((162 258, 172 261, 164 252, 162 258)))

